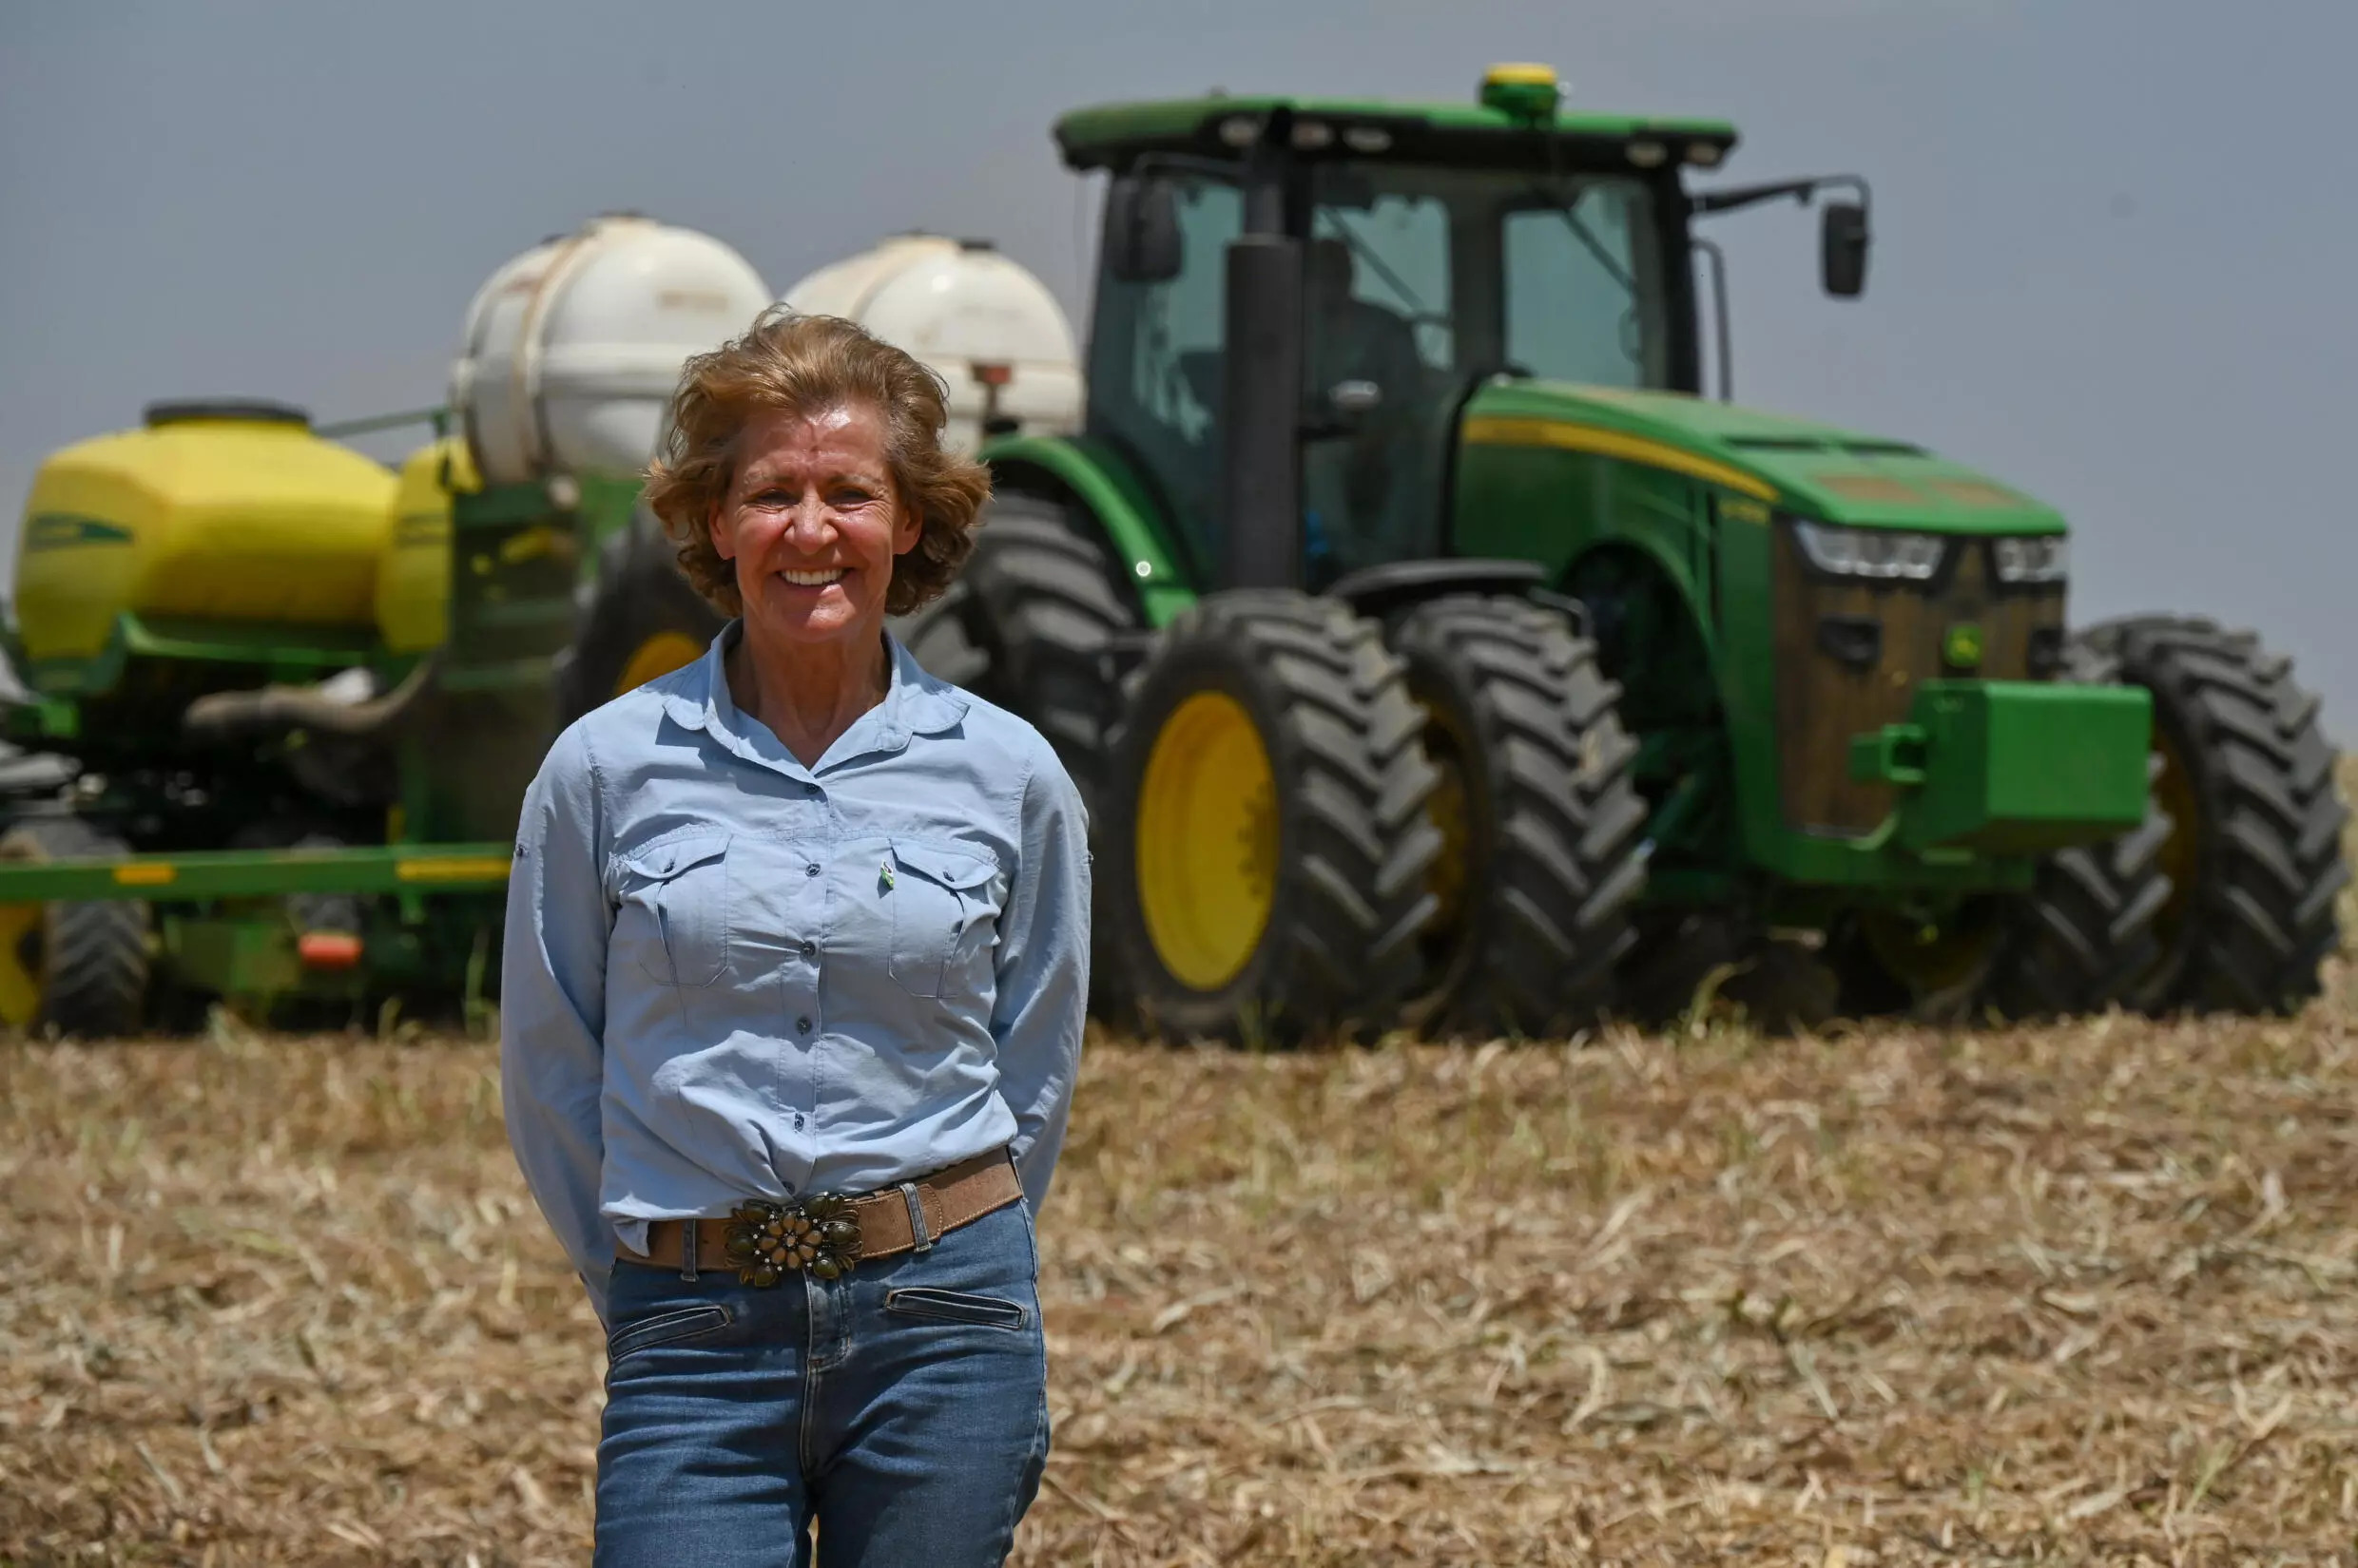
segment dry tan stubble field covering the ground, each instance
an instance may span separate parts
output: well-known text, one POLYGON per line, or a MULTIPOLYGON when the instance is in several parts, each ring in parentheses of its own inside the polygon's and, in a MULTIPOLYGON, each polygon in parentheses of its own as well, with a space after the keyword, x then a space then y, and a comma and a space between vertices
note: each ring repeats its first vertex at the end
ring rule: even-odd
MULTIPOLYGON (((2297 1021, 1092 1042, 1028 1563, 2358 1561, 2358 976, 2297 1021)), ((465 1040, 0 1045, 0 1563, 585 1561, 465 1040)))

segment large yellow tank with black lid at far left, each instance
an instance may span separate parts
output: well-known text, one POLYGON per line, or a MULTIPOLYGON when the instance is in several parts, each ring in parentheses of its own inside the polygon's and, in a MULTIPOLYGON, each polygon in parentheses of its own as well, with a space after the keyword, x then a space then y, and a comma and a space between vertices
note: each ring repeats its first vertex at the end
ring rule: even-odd
POLYGON ((158 403, 35 474, 17 535, 31 660, 99 655, 120 615, 368 627, 394 476, 276 403, 158 403))

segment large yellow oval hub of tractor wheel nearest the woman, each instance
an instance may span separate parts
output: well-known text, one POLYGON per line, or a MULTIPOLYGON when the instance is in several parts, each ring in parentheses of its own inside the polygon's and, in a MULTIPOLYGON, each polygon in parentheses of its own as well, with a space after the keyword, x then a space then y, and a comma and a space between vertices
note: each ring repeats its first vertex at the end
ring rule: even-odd
POLYGON ((1155 957, 1193 990, 1233 981, 1278 891, 1278 780, 1252 714, 1198 691, 1146 757, 1137 813, 1139 908, 1155 957))

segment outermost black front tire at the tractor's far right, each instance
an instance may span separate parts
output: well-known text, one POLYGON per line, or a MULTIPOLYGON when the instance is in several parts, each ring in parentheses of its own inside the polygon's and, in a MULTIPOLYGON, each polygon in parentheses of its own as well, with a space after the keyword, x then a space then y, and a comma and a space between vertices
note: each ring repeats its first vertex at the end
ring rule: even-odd
POLYGON ((2290 658, 2209 620, 2132 615, 2084 637, 2153 693, 2155 797, 2172 818, 2158 851, 2174 882, 2160 955, 2132 1002, 2299 1012, 2339 946, 2334 903, 2351 877, 2318 698, 2294 684, 2290 658))

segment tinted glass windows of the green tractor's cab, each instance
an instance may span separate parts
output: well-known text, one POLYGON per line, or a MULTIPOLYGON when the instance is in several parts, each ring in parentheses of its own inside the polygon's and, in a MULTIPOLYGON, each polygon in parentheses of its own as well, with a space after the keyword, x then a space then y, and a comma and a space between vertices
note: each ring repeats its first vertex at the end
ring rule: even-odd
MULTIPOLYGON (((1224 266, 1247 203, 1219 167, 1153 177, 1172 198, 1174 269, 1099 281, 1089 429, 1151 476, 1217 575, 1224 266)), ((1453 422, 1476 377, 1672 384, 1662 231, 1641 179, 1370 160, 1311 165, 1297 191, 1313 587, 1438 549, 1453 422)))

